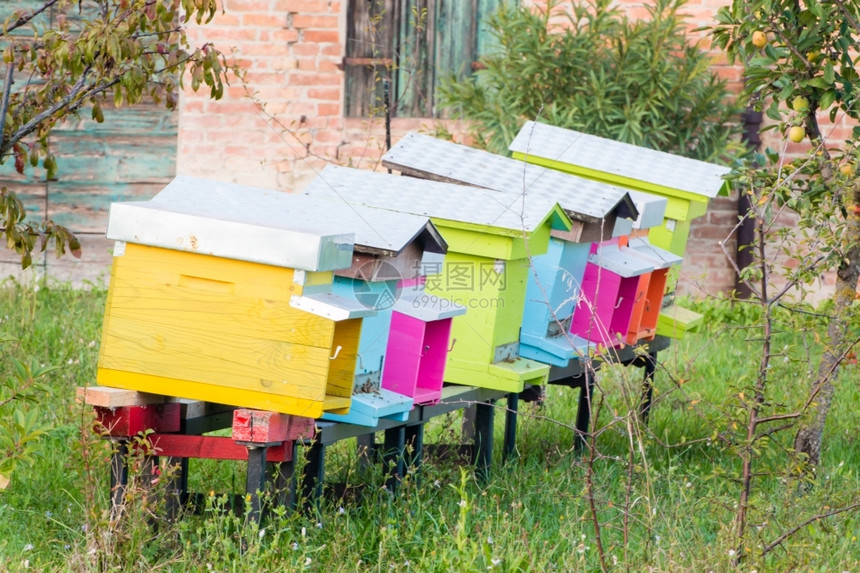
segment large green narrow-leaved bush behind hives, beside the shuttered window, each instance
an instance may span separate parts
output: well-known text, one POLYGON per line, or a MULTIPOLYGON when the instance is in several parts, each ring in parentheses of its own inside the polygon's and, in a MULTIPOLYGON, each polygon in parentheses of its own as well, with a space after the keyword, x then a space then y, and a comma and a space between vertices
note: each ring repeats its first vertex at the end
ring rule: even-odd
POLYGON ((505 153, 526 119, 702 160, 718 160, 738 112, 709 56, 687 43, 685 0, 657 0, 630 20, 609 0, 501 8, 484 69, 444 82, 441 104, 472 120, 479 146, 505 153))

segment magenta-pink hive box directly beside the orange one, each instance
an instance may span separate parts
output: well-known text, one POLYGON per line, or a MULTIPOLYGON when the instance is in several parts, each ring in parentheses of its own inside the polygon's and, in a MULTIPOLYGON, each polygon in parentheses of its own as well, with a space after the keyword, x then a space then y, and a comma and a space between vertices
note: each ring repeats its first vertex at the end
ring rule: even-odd
POLYGON ((615 344, 615 339, 610 337, 610 330, 620 283, 621 276, 612 271, 591 262, 585 266, 580 300, 570 324, 572 334, 592 342, 615 344))

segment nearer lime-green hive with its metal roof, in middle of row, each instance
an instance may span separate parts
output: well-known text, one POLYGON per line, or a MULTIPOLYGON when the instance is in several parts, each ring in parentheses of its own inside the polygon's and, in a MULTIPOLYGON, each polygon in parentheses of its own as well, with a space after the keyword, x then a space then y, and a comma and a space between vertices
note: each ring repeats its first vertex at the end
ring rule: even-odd
POLYGON ((545 365, 519 357, 528 257, 546 252, 550 231, 570 229, 554 201, 530 200, 484 189, 410 177, 327 167, 311 194, 428 215, 448 243, 426 294, 467 308, 454 318, 445 381, 505 391, 541 382, 545 365))

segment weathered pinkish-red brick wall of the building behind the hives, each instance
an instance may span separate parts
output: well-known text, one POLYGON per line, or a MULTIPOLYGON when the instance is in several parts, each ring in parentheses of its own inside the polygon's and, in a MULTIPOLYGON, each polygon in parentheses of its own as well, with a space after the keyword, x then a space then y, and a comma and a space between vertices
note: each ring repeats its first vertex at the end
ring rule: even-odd
MULTIPOLYGON (((245 81, 235 80, 217 102, 183 94, 177 171, 300 190, 326 162, 375 168, 384 146, 382 120, 343 117, 340 63, 346 1, 222 0, 222 4, 224 13, 192 29, 189 37, 194 43, 211 41, 232 51, 246 70, 245 81)), ((643 2, 619 4, 633 16, 647 14, 643 2)), ((684 10, 689 29, 711 25, 713 14, 726 4, 728 0, 689 2, 684 10)), ((693 37, 708 47, 706 32, 693 37)), ((741 70, 729 66, 719 53, 713 57, 717 72, 739 88, 741 70)), ((412 129, 432 129, 433 124, 431 119, 395 118, 393 140, 412 129)), ((449 124, 448 129, 457 133, 458 125, 449 124)), ((767 143, 781 142, 772 133, 767 143)), ((734 272, 720 241, 733 256, 734 238, 729 233, 736 222, 733 198, 716 199, 694 222, 680 292, 704 296, 733 288, 734 272)))

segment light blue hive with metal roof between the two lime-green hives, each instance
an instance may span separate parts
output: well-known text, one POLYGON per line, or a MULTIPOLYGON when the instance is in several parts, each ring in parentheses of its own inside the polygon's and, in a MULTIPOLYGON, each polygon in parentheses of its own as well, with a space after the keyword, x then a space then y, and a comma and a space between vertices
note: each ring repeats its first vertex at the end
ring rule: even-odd
POLYGON ((383 164, 410 176, 558 201, 571 229, 552 231, 547 252, 531 254, 519 355, 566 366, 587 352, 589 342, 568 331, 570 318, 591 243, 625 229, 622 221, 635 214, 626 190, 416 133, 389 150, 383 164))

